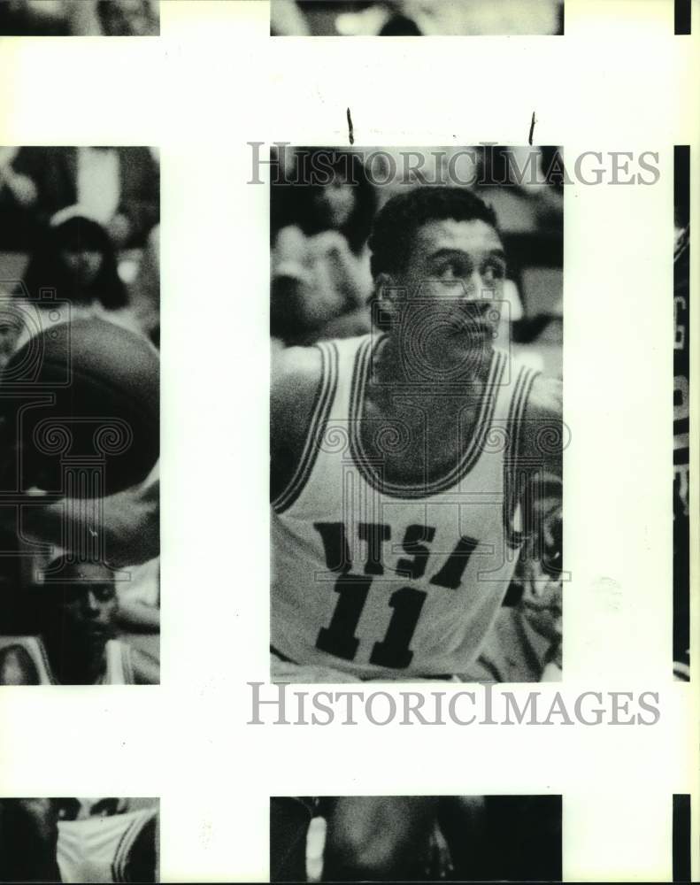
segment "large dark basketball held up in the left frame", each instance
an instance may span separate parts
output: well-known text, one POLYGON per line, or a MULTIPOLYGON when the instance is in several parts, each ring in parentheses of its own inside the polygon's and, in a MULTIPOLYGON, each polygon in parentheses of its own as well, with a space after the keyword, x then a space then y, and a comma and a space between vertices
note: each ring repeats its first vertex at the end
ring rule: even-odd
POLYGON ((143 481, 158 460, 158 400, 158 351, 140 335, 102 319, 34 335, 0 380, 17 490, 100 497, 143 481))

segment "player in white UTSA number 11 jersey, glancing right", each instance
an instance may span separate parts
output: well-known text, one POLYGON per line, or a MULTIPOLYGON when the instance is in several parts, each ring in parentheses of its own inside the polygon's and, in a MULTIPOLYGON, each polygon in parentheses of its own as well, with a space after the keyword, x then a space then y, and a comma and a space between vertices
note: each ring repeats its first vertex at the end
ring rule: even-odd
POLYGON ((273 366, 285 681, 464 674, 537 528, 537 489, 560 496, 558 385, 494 346, 494 213, 464 189, 413 189, 384 206, 369 246, 381 329, 273 366))

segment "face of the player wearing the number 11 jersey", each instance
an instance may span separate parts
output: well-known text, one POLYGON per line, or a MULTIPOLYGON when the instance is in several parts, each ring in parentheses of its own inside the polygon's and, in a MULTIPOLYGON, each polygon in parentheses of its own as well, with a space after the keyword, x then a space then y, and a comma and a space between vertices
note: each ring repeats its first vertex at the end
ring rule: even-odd
MULTIPOLYGON (((485 221, 428 221, 416 232, 396 282, 407 290, 415 334, 448 349, 490 348, 503 301, 501 238, 485 221), (415 320, 425 317, 425 328, 415 320)), ((413 334, 413 333, 412 333, 413 334)))

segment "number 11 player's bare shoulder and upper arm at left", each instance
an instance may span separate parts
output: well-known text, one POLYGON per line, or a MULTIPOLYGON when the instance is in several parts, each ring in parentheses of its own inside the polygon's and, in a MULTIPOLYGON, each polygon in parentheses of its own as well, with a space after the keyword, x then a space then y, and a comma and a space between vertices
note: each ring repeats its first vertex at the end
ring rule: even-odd
POLYGON ((270 496, 280 495, 294 476, 312 422, 321 384, 321 353, 290 347, 273 353, 270 392, 270 496))

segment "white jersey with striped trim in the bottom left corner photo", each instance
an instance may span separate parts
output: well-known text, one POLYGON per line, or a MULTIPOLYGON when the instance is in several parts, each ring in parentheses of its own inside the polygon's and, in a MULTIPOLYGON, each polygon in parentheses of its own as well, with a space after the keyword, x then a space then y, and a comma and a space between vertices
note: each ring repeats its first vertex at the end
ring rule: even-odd
POLYGON ((56 857, 65 882, 127 882, 136 837, 157 811, 144 809, 87 820, 59 820, 56 857))

